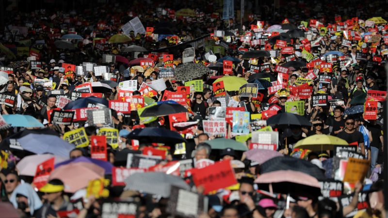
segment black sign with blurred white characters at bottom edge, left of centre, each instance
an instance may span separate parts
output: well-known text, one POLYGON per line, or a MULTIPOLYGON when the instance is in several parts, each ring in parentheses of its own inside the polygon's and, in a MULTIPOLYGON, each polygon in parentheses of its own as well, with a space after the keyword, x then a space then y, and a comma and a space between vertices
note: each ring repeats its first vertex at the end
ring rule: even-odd
POLYGON ((138 203, 132 199, 127 201, 103 200, 101 205, 101 218, 135 218, 138 203))

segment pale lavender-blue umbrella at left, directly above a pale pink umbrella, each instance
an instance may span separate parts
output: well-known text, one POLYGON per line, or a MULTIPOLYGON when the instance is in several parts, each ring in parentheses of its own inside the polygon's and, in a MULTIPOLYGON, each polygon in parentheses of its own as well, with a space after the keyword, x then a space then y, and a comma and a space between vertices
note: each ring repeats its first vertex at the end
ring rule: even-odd
POLYGON ((73 144, 52 135, 29 134, 20 138, 20 145, 27 151, 35 154, 50 153, 57 156, 68 157, 71 150, 75 148, 73 144))

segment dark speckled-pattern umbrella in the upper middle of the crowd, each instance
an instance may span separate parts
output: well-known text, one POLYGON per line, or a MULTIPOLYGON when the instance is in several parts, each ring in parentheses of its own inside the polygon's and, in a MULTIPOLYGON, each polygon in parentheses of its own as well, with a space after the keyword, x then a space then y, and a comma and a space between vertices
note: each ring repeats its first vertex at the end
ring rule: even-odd
POLYGON ((175 68, 175 78, 177 80, 188 81, 202 77, 205 74, 210 74, 210 69, 202 63, 187 62, 175 68))

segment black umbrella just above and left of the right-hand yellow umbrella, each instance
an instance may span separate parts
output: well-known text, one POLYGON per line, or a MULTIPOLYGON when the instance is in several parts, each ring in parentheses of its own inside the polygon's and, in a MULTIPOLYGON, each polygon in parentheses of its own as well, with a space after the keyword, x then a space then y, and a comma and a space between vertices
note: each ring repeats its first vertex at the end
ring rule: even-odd
POLYGON ((267 125, 277 128, 290 128, 291 125, 311 126, 311 123, 305 117, 298 114, 278 113, 268 118, 267 125))

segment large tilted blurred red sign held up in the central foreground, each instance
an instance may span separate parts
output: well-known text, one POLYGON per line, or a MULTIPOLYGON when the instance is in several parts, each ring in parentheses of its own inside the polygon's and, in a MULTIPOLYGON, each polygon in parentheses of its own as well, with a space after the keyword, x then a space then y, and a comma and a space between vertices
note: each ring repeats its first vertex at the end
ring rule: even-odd
POLYGON ((237 183, 230 160, 217 161, 200 171, 194 171, 193 181, 195 186, 205 188, 204 194, 237 183))

